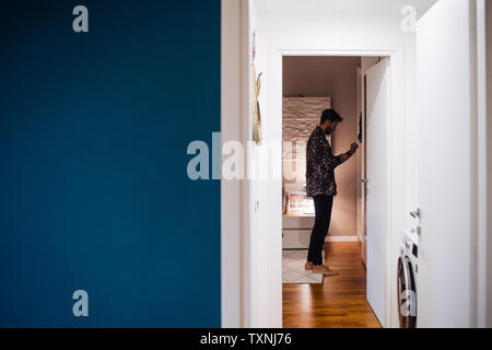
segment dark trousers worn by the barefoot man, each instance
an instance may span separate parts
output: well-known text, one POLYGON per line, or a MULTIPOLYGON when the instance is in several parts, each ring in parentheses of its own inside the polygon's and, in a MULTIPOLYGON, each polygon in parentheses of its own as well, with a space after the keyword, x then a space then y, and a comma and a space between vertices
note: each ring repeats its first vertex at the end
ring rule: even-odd
POLYGON ((333 207, 333 196, 318 195, 314 198, 315 202, 315 225, 311 233, 309 253, 307 261, 314 265, 323 265, 323 245, 328 233, 331 220, 331 208, 333 207))

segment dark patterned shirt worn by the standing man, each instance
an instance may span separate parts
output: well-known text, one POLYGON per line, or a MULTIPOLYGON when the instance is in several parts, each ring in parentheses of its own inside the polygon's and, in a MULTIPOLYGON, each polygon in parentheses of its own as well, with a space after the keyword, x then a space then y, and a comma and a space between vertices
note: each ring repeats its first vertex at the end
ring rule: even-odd
POLYGON ((337 195, 333 170, 340 165, 320 126, 311 133, 306 148, 306 195, 337 195))

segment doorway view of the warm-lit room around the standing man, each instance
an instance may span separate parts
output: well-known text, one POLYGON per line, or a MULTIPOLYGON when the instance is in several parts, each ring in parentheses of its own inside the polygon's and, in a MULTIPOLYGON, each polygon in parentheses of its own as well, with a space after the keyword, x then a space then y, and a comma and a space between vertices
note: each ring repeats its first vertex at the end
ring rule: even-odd
POLYGON ((388 66, 389 59, 383 57, 282 58, 284 327, 378 327, 386 323, 387 259, 380 252, 385 252, 387 246, 385 215, 388 212, 389 174, 385 153, 389 118, 388 66), (343 122, 328 138, 333 154, 344 153, 355 141, 360 150, 336 170, 338 189, 324 254, 325 264, 340 275, 324 278, 304 269, 314 224, 314 206, 312 198, 305 196, 304 173, 305 142, 319 124, 319 116, 325 108, 333 108, 343 117, 343 122), (367 113, 370 118, 366 118, 367 113), (366 126, 375 136, 372 142, 366 142, 366 126), (370 147, 374 166, 366 166, 366 145, 370 147), (376 153, 378 155, 374 158, 376 153), (368 221, 368 241, 365 220, 367 171, 370 177, 374 178, 371 183, 373 196, 368 197, 370 213, 376 218, 368 221), (371 276, 368 284, 366 242, 371 276), (358 306, 352 310, 351 305, 354 304, 358 306))

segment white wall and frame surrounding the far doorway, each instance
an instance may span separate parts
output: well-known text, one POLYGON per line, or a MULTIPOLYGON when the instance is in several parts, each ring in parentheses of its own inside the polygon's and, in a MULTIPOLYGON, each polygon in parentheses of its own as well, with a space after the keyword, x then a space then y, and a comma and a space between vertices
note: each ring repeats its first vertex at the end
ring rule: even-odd
MULTIPOLYGON (((391 74, 393 74, 393 116, 391 120, 391 152, 393 152, 393 175, 390 184, 391 197, 391 237, 388 243, 390 257, 388 261, 388 276, 391 294, 388 299, 388 319, 386 326, 398 326, 396 311, 396 262, 399 246, 399 232, 407 223, 406 213, 409 211, 407 202, 406 187, 406 120, 410 117, 411 104, 409 93, 412 86, 412 74, 408 62, 414 59, 414 36, 412 33, 403 33, 400 30, 401 16, 399 12, 395 14, 372 15, 364 14, 336 14, 332 12, 303 12, 295 13, 272 13, 257 11, 255 26, 258 33, 258 44, 261 49, 262 80, 262 122, 263 137, 267 140, 281 140, 281 92, 282 92, 282 65, 281 52, 285 55, 296 55, 300 48, 304 48, 302 55, 308 51, 311 55, 337 55, 339 52, 352 52, 350 56, 360 56, 362 51, 372 51, 375 56, 382 51, 391 51, 391 74), (296 51, 297 49, 297 51, 296 51), (407 66, 406 66, 407 62, 407 66), (390 308, 393 307, 393 308, 390 308)), ((298 54, 297 54, 298 55, 298 54)), ((279 154, 280 156, 280 154, 279 154)), ((280 326, 281 324, 281 184, 271 183, 266 189, 266 197, 262 198, 261 210, 268 220, 261 222, 258 228, 260 241, 253 245, 262 245, 268 254, 273 254, 274 258, 269 259, 267 269, 269 270, 266 281, 267 292, 261 298, 267 298, 267 305, 270 314, 265 316, 261 325, 280 326), (277 253, 278 252, 278 253, 277 253)))

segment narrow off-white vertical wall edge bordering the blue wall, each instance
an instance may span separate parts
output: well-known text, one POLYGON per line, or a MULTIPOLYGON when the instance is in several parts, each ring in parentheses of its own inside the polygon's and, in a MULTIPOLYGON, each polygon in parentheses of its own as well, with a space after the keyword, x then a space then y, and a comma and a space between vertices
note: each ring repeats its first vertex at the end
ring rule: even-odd
MULTIPOLYGON (((241 115, 241 5, 239 1, 222 0, 221 51, 221 131, 222 142, 241 139, 241 127, 231 116, 241 115)), ((241 185, 221 183, 221 318, 222 327, 242 325, 241 264, 241 185), (225 203, 227 203, 225 206, 225 203), (238 273, 239 272, 239 273, 238 273)))

